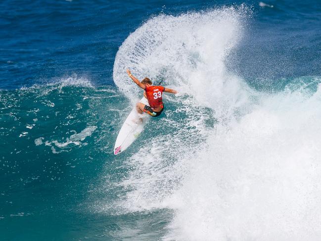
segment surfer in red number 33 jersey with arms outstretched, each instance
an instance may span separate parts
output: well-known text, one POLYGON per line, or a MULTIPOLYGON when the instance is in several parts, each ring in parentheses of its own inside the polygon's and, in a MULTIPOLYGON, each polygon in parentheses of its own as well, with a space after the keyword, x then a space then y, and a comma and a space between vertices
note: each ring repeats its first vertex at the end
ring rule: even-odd
POLYGON ((145 112, 153 117, 159 116, 164 110, 163 92, 177 94, 177 91, 175 90, 163 86, 153 86, 152 82, 147 77, 140 82, 132 75, 129 69, 127 69, 127 74, 141 89, 145 90, 144 96, 148 100, 149 106, 138 102, 136 104, 136 109, 139 114, 145 112))

